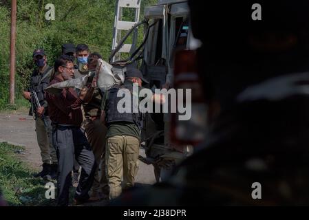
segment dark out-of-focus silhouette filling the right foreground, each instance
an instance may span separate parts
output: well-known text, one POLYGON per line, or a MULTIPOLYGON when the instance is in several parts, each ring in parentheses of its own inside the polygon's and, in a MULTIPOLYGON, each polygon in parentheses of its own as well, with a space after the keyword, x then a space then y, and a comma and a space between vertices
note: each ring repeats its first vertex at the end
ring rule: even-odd
POLYGON ((253 3, 189 1, 204 94, 220 112, 168 181, 111 204, 309 204, 309 2, 259 1, 261 21, 253 3))

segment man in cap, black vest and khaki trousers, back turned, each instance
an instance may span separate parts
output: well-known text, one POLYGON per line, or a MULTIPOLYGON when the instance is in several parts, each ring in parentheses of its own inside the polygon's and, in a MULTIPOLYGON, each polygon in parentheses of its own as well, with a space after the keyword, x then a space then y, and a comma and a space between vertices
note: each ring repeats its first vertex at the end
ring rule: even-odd
MULTIPOLYGON (((133 91, 134 84, 139 88, 142 83, 148 84, 136 68, 129 68, 125 73, 125 83, 121 86, 115 86, 103 95, 101 121, 107 125, 106 134, 106 170, 107 181, 109 185, 109 199, 115 199, 121 192, 121 179, 125 188, 134 186, 134 179, 138 172, 138 155, 140 150, 140 126, 142 113, 133 112, 133 96, 137 96, 133 91), (129 89, 131 96, 131 111, 129 113, 120 113, 117 109, 118 102, 122 97, 118 97, 119 89, 129 89)), ((152 100, 164 102, 160 94, 153 94, 152 100)))

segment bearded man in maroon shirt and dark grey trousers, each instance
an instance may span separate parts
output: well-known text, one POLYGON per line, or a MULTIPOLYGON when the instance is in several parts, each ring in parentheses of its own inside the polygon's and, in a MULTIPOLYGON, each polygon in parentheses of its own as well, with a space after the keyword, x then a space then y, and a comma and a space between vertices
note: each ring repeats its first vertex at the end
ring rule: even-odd
MULTIPOLYGON (((55 61, 54 69, 55 74, 50 85, 69 80, 74 75, 72 58, 61 56, 55 61)), ((82 167, 74 199, 76 204, 89 199, 88 191, 94 181, 96 162, 87 138, 81 130, 81 104, 91 98, 92 92, 93 89, 84 88, 78 96, 73 88, 65 88, 58 95, 46 94, 53 125, 52 137, 58 157, 58 206, 67 206, 69 203, 74 155, 82 167)))

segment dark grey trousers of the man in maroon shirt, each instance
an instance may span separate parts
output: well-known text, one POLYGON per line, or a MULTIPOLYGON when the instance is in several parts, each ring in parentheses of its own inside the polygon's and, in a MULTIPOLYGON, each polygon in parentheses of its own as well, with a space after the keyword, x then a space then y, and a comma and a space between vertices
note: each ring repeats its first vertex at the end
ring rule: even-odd
POLYGON ((54 126, 52 137, 58 157, 58 206, 69 204, 74 156, 82 168, 74 197, 82 201, 89 199, 88 191, 94 181, 96 162, 85 134, 77 126, 54 126))

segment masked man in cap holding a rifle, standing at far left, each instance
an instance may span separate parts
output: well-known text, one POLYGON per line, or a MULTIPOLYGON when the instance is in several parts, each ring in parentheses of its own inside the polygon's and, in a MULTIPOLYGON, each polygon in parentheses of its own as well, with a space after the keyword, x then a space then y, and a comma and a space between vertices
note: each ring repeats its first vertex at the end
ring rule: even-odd
POLYGON ((30 78, 30 86, 27 91, 23 91, 23 97, 32 103, 29 115, 34 115, 36 138, 41 149, 43 170, 34 177, 44 177, 55 179, 57 173, 57 157, 54 146, 52 145, 52 125, 48 116, 48 104, 45 100, 44 89, 50 82, 52 67, 47 65, 47 58, 43 49, 36 49, 33 52, 33 61, 36 69, 30 78), (34 98, 31 91, 36 92, 41 107, 36 109, 34 98))

